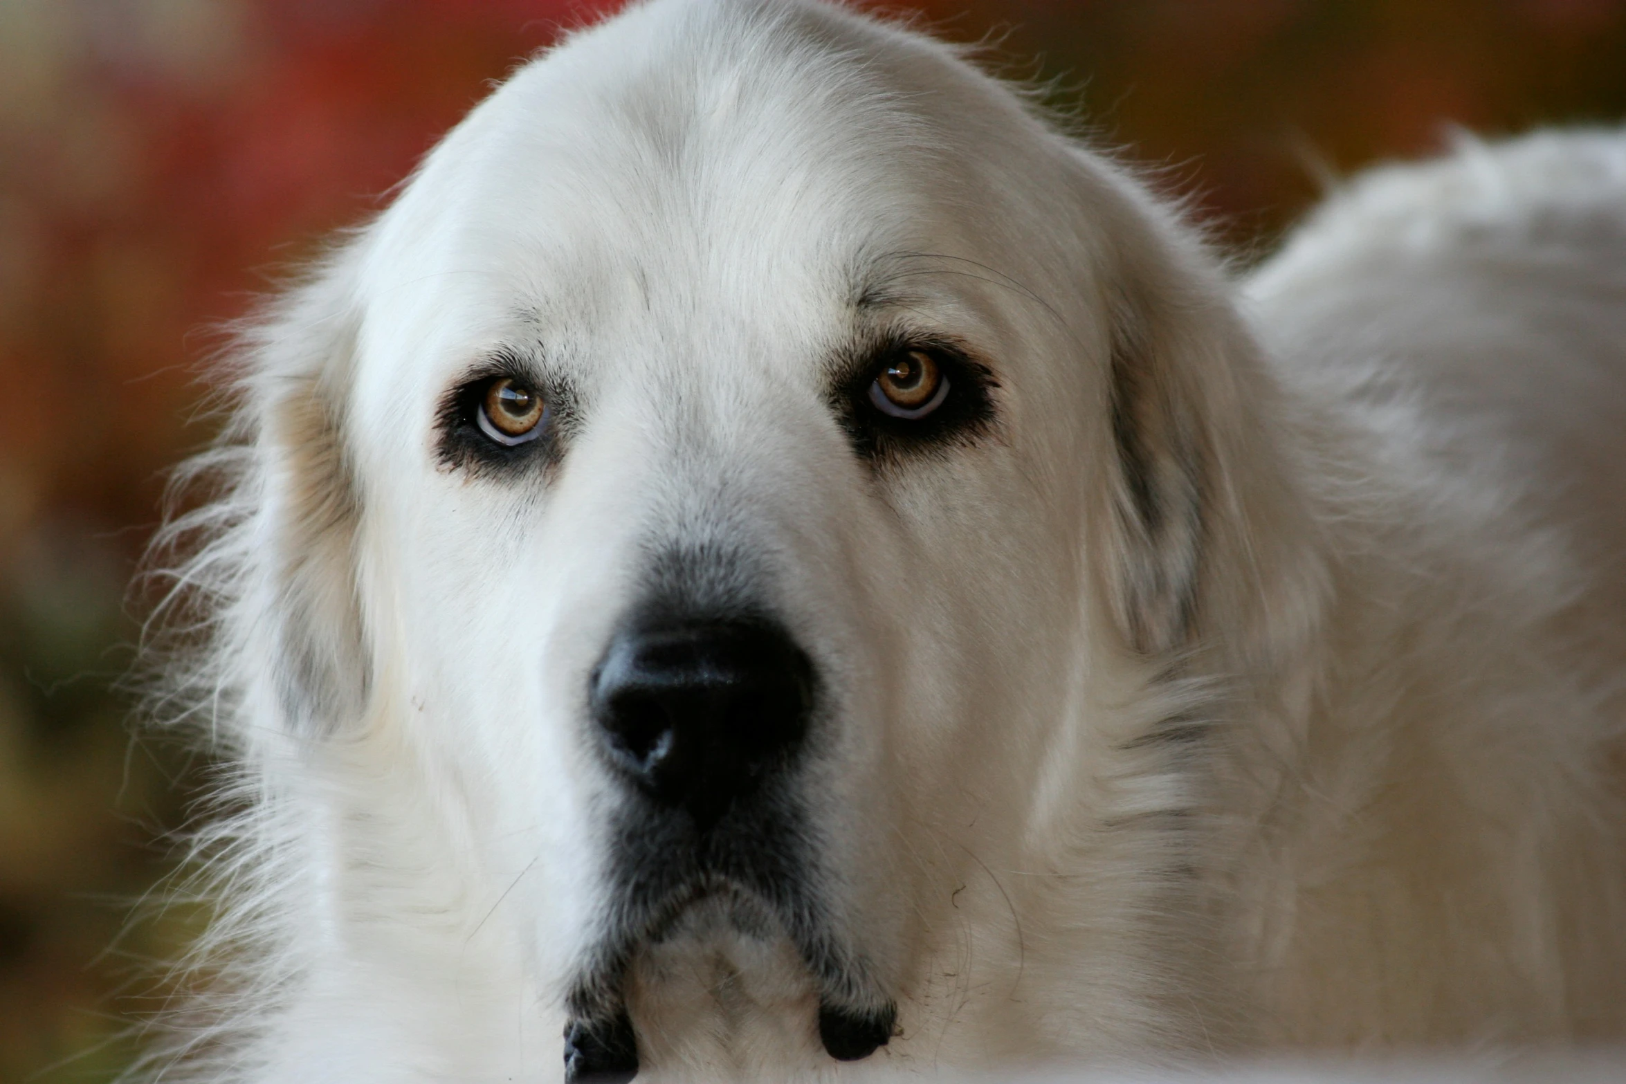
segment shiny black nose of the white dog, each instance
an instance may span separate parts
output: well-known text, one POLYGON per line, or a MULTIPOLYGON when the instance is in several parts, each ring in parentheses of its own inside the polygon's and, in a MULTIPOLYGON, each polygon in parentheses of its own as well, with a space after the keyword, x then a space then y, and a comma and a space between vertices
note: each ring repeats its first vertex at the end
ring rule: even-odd
POLYGON ((769 621, 631 627, 593 670, 590 704, 611 759, 709 827, 800 744, 813 665, 769 621))

